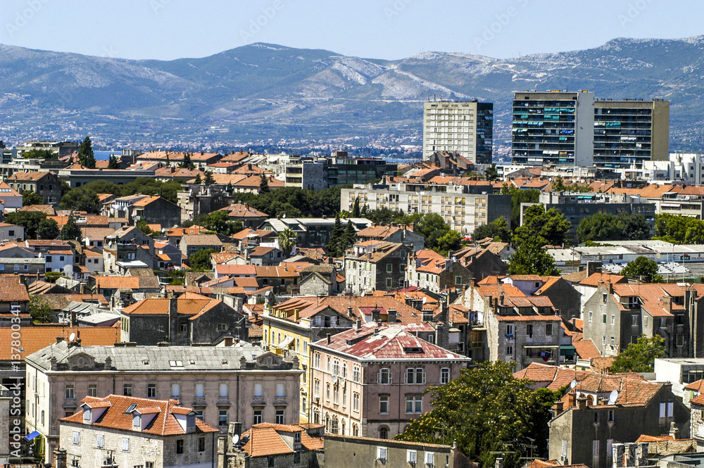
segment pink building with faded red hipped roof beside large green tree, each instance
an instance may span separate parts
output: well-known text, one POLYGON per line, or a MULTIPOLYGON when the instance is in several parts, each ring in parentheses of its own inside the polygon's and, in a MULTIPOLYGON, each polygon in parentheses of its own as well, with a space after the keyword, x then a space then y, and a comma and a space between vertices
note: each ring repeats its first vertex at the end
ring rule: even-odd
POLYGON ((357 322, 310 348, 310 421, 344 436, 400 434, 430 409, 425 389, 448 383, 470 362, 403 327, 373 322, 357 322))

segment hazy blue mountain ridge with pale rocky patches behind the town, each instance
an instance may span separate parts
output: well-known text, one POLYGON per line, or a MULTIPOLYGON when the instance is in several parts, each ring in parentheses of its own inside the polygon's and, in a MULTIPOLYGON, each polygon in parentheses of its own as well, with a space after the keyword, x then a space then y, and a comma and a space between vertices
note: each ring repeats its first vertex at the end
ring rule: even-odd
POLYGON ((250 141, 421 134, 422 101, 493 101, 510 141, 522 89, 671 101, 671 148, 704 143, 704 36, 613 39, 582 51, 496 59, 424 52, 397 61, 250 44, 204 58, 126 60, 0 45, 0 138, 250 141))

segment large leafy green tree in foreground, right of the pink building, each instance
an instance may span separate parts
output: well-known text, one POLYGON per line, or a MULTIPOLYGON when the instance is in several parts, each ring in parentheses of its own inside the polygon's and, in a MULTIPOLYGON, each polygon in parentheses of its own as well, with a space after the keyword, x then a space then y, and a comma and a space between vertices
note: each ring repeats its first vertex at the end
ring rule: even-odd
POLYGON ((432 409, 414 419, 396 440, 457 442, 458 449, 483 467, 494 467, 498 453, 503 466, 520 467, 528 453, 517 449, 536 443, 534 456, 547 455, 550 408, 560 393, 547 388, 533 390, 527 379, 515 379, 508 362, 482 362, 462 369, 456 379, 427 389, 432 409), (524 445, 525 444, 525 445, 524 445))

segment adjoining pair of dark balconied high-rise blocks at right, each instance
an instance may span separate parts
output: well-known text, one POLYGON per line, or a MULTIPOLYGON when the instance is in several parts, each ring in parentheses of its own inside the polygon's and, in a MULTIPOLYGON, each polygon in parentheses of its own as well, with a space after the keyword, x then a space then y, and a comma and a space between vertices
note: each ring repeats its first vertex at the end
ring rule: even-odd
POLYGON ((513 99, 513 164, 643 167, 667 160, 670 103, 595 101, 589 91, 522 91, 513 99))

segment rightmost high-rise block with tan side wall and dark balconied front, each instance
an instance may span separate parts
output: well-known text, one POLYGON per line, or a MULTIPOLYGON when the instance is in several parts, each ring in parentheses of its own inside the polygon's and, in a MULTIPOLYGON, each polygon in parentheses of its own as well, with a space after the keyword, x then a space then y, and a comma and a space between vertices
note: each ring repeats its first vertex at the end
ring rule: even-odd
POLYGON ((594 102, 594 163, 598 167, 643 167, 670 153, 670 102, 655 99, 594 102))

